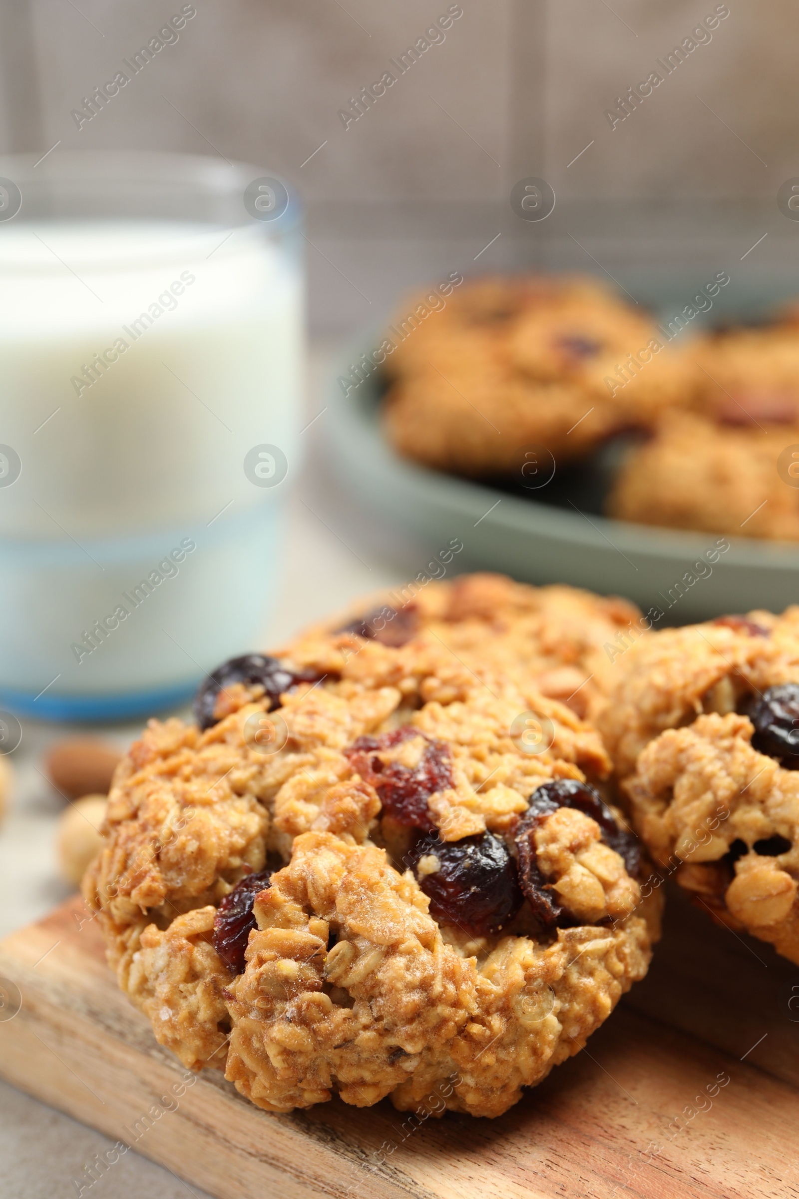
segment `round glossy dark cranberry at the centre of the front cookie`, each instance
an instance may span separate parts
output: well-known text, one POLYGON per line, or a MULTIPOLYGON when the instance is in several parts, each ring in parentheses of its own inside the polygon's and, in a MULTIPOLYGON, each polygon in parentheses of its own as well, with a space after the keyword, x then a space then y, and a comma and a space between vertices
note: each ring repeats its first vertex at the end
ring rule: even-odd
POLYGON ((431 915, 468 933, 498 932, 523 903, 516 863, 506 843, 490 832, 461 840, 441 840, 431 833, 417 840, 408 861, 430 897, 431 915), (419 858, 428 854, 437 857, 440 869, 419 878, 419 858))

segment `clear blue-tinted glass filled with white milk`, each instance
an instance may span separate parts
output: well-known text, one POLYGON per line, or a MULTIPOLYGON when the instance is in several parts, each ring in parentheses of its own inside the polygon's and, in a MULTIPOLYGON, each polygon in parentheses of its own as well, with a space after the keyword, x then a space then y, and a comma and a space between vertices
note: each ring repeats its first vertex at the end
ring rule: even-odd
POLYGON ((297 466, 297 204, 220 159, 0 158, 0 706, 114 719, 261 647, 297 466))

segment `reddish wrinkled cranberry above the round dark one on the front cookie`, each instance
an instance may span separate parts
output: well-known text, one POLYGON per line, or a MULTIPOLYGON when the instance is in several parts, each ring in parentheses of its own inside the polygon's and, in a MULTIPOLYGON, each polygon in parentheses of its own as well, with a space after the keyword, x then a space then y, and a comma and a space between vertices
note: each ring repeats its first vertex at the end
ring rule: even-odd
POLYGON ((435 825, 430 819, 428 800, 436 791, 446 791, 453 785, 449 746, 444 741, 424 737, 426 743, 414 769, 377 757, 379 752, 393 749, 402 741, 418 736, 424 734, 404 724, 393 733, 357 737, 344 753, 364 783, 377 791, 383 812, 398 824, 430 832, 435 825))

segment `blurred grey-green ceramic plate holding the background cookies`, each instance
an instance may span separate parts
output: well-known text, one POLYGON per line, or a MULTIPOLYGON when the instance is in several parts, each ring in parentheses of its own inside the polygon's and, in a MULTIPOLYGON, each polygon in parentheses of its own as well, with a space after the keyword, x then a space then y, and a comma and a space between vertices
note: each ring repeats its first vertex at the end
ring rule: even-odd
MULTIPOLYGON (((367 348, 371 344, 364 338, 367 348)), ((589 468, 556 471, 538 489, 520 482, 515 493, 400 458, 382 435, 379 379, 373 375, 349 396, 338 382, 363 348, 355 348, 331 380, 332 469, 369 512, 431 553, 460 538, 459 570, 627 596, 644 611, 660 609, 664 623, 752 608, 781 611, 799 602, 799 547, 671 532, 600 516, 612 448, 589 468)))

